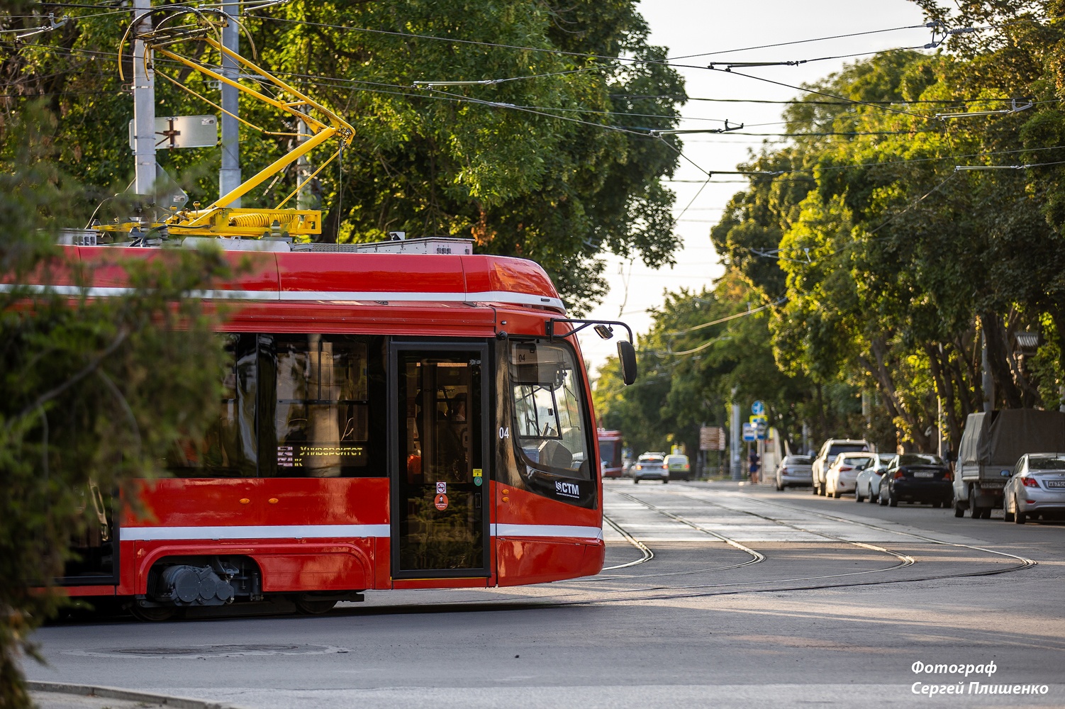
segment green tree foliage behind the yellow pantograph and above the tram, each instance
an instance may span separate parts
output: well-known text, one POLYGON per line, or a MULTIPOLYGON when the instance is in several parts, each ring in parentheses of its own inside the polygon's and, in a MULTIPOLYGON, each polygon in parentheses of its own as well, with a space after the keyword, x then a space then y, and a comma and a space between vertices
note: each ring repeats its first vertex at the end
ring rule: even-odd
MULTIPOLYGON (((132 178, 125 130, 132 101, 120 90, 116 53, 129 18, 73 5, 64 12, 71 21, 60 30, 0 42, 0 81, 5 95, 47 97, 64 163, 99 186, 100 199, 132 178)), ((577 311, 605 292, 604 253, 671 263, 679 242, 662 180, 676 167, 678 143, 646 129, 675 127, 678 99, 630 97, 683 98, 684 86, 660 63, 665 48, 648 44, 632 0, 291 0, 242 21, 244 53, 356 128, 341 169, 318 177, 326 241, 379 241, 389 231, 473 237, 479 252, 543 264, 577 311), (503 81, 412 87, 432 80, 503 81)), ((214 111, 165 79, 217 101, 203 77, 161 59, 155 68, 158 115, 214 111)), ((4 100, 13 115, 22 99, 4 100)), ((242 98, 241 115, 295 129, 253 100, 242 98)), ((292 147, 291 137, 241 131, 245 176, 292 147)), ((335 149, 315 151, 312 164, 335 149)), ((217 193, 217 149, 160 153, 204 202, 217 193)), ((293 166, 244 205, 276 203, 296 184, 293 166)))

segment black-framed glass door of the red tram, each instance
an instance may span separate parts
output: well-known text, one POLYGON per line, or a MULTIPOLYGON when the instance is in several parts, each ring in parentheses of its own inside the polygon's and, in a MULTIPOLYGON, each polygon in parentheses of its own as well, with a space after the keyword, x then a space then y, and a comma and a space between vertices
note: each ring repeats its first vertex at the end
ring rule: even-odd
POLYGON ((391 350, 392 577, 489 576, 488 348, 391 350))

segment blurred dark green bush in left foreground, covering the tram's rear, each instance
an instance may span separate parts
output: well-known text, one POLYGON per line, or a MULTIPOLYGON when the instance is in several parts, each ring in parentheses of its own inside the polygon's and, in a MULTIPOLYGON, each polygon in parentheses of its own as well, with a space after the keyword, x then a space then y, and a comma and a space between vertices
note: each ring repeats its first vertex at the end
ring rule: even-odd
POLYGON ((218 254, 130 263, 124 297, 18 285, 92 278, 54 245, 82 196, 55 167, 39 115, 23 108, 0 146, 0 706, 12 708, 31 706, 20 656, 36 657, 33 629, 64 603, 53 579, 94 524, 91 487, 131 492, 132 478, 163 475, 171 446, 200 435, 220 396, 213 319, 183 297, 226 273, 218 254))

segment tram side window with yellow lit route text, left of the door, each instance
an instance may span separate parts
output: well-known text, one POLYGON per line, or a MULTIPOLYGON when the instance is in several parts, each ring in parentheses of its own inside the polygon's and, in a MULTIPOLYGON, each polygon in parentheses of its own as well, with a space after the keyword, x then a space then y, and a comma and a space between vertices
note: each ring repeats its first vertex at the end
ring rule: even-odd
POLYGON ((368 461, 366 343, 345 335, 276 335, 274 433, 278 477, 359 475, 368 461))

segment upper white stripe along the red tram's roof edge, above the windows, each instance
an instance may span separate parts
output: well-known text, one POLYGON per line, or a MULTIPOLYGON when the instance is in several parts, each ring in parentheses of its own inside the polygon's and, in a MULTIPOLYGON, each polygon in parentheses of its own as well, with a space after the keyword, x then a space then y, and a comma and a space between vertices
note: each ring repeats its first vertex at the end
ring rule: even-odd
MULTIPOLYGON (((15 285, 0 283, 0 293, 9 293, 16 287, 29 288, 34 293, 55 293, 68 296, 84 296, 86 298, 109 298, 129 295, 134 288, 125 286, 89 286, 80 285, 15 285)), ((190 297, 204 300, 266 300, 266 301, 308 301, 308 300, 387 300, 395 302, 505 302, 519 306, 542 306, 566 312, 566 306, 560 298, 540 296, 534 293, 513 293, 511 291, 478 291, 475 293, 456 292, 383 292, 383 291, 191 291, 190 297)))

